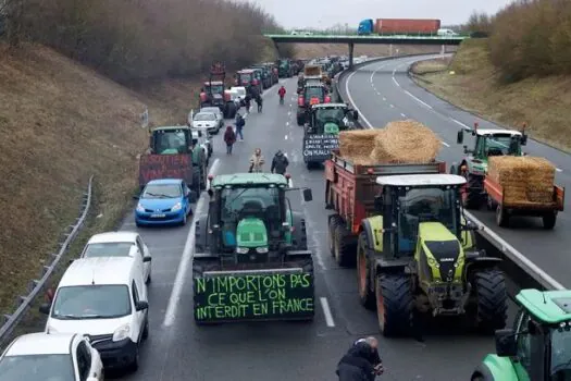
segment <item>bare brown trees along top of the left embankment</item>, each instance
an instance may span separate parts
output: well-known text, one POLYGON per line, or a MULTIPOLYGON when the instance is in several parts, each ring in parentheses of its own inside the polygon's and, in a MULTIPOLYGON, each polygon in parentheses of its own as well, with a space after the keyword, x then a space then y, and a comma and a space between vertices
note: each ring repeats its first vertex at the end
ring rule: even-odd
POLYGON ((204 73, 213 60, 240 67, 266 50, 261 33, 281 32, 260 7, 237 1, 7 1, 12 45, 41 42, 123 83, 204 73))

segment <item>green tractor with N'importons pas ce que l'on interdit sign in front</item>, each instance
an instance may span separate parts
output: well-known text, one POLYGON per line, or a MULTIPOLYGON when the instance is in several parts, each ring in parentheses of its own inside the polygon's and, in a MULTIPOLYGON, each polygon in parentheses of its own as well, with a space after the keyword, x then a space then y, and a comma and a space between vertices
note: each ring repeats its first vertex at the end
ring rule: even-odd
POLYGON ((208 216, 195 222, 197 324, 313 320, 314 275, 306 221, 286 194, 289 176, 236 173, 211 177, 208 216))

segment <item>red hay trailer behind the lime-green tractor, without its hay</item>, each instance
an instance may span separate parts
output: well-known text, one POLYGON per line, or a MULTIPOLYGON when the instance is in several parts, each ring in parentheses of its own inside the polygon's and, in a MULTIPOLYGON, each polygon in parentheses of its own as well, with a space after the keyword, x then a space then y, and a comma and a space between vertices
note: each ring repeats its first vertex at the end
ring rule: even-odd
POLYGON ((446 173, 446 162, 422 164, 357 165, 333 150, 325 161, 325 209, 328 217, 330 251, 339 266, 355 267, 361 220, 373 216, 376 176, 446 173))

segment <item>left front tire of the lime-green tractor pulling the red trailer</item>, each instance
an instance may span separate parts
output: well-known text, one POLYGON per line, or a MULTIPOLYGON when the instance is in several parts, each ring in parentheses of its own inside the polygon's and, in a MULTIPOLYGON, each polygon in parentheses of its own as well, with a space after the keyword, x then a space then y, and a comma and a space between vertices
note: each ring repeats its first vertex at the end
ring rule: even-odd
POLYGON ((410 335, 414 306, 410 279, 405 274, 381 274, 375 283, 376 316, 383 336, 410 335))

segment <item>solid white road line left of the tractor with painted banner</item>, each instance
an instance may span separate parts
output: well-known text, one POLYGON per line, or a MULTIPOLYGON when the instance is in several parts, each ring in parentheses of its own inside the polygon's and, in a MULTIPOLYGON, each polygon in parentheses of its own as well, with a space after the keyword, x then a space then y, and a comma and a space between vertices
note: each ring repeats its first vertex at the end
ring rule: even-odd
MULTIPOLYGON (((209 174, 215 174, 220 165, 220 159, 215 159, 212 165, 210 167, 209 174)), ((200 195, 198 202, 195 208, 195 217, 203 213, 202 209, 207 206, 207 197, 203 193, 200 195)), ((166 312, 164 314, 163 327, 171 327, 174 323, 176 318, 176 309, 181 300, 181 295, 183 293, 183 286, 187 278, 188 268, 191 265, 191 258, 195 253, 195 234, 196 234, 196 223, 195 219, 190 221, 191 225, 188 230, 188 236, 186 237, 185 248, 183 250, 183 256, 181 257, 181 262, 178 263, 178 270, 176 271, 176 278, 174 280, 173 291, 171 292, 171 297, 169 298, 169 306, 166 307, 166 312)))

